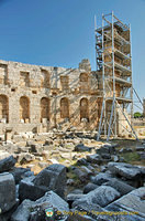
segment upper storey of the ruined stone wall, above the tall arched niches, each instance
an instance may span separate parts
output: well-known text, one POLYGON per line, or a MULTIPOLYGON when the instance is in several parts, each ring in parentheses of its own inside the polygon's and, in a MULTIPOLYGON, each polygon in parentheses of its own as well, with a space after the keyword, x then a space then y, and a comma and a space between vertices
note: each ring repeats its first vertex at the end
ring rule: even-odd
POLYGON ((97 74, 90 71, 89 60, 82 60, 79 63, 79 69, 32 65, 0 60, 0 88, 3 88, 3 86, 11 87, 13 91, 18 88, 23 91, 24 87, 34 91, 44 88, 45 92, 46 90, 48 92, 49 90, 67 90, 68 84, 69 90, 77 91, 83 84, 80 83, 80 74, 87 73, 89 82, 88 90, 89 87, 90 90, 97 90, 97 74))

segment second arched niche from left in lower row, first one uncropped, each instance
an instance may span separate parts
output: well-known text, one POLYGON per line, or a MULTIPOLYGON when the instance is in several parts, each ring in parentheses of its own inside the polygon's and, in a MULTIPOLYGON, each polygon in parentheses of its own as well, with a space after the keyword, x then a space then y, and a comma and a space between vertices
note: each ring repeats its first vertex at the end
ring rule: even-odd
POLYGON ((30 122, 30 99, 26 96, 20 98, 20 119, 23 123, 30 122))

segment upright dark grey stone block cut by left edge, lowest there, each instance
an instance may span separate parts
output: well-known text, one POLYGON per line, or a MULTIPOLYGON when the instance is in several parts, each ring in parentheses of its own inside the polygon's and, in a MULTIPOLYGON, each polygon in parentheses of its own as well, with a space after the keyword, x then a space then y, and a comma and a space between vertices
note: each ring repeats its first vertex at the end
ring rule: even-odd
POLYGON ((0 173, 0 209, 7 212, 15 204, 15 183, 12 175, 0 173))

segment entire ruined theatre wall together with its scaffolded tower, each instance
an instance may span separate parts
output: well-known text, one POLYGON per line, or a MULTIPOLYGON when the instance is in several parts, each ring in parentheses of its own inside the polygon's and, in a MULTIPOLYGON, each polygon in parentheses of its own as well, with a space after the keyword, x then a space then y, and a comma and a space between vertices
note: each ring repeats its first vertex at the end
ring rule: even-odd
POLYGON ((0 61, 1 135, 74 127, 104 135, 130 130, 131 30, 113 13, 110 18, 103 15, 96 28, 97 71, 87 59, 78 69, 0 61))

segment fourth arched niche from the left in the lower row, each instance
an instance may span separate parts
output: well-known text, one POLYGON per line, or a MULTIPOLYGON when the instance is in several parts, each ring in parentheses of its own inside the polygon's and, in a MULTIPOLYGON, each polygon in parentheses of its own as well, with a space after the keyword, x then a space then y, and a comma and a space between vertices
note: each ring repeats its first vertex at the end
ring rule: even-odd
POLYGON ((69 118, 69 101, 66 97, 60 99, 60 117, 69 118))

